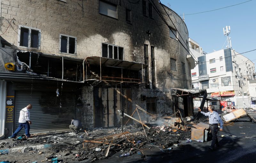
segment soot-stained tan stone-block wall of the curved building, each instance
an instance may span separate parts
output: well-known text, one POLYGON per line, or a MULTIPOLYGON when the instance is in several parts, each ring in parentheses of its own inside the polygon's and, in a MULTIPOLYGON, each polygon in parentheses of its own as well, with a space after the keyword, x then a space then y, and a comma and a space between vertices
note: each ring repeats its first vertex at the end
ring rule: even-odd
MULTIPOLYGON (((97 126, 99 119, 98 126, 119 125, 117 110, 123 108, 125 113, 131 114, 136 104, 154 114, 173 113, 171 88, 192 89, 186 24, 174 11, 156 0, 1 2, 1 36, 12 44, 12 48, 85 60, 91 56, 104 57, 103 48, 108 45, 108 53, 113 47, 113 59, 148 65, 139 71, 139 78, 148 85, 102 87, 85 82, 81 89, 80 110, 76 113, 84 127, 97 126), (114 14, 104 12, 108 7, 114 14), (172 38, 172 31, 180 42, 172 38), (26 32, 29 33, 28 44, 22 40, 26 32), (38 39, 38 46, 34 46, 35 39, 32 38, 38 39), (66 42, 64 49, 67 51, 63 51, 61 43, 66 42), (122 57, 115 58, 115 47, 122 57), (100 106, 96 105, 96 99, 100 106), (100 113, 98 107, 102 109, 100 113)), ((141 116, 147 120, 147 116, 141 116)))

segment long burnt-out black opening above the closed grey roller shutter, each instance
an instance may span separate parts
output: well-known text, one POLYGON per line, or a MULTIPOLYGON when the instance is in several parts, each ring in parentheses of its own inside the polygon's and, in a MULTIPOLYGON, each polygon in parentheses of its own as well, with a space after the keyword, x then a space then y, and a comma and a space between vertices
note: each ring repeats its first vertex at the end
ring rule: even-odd
POLYGON ((16 53, 16 67, 20 72, 39 75, 45 78, 83 81, 83 60, 52 56, 35 52, 16 53))

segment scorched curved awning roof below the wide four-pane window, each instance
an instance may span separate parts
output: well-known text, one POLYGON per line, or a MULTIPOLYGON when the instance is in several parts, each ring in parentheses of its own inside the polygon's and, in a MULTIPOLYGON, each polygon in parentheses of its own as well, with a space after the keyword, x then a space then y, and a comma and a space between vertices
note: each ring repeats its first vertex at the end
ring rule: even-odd
POLYGON ((118 59, 112 59, 112 58, 105 58, 105 57, 97 57, 97 56, 87 57, 85 61, 87 61, 90 65, 118 67, 118 68, 137 70, 137 71, 148 67, 148 65, 143 63, 130 62, 130 61, 124 61, 124 60, 118 60, 118 59))

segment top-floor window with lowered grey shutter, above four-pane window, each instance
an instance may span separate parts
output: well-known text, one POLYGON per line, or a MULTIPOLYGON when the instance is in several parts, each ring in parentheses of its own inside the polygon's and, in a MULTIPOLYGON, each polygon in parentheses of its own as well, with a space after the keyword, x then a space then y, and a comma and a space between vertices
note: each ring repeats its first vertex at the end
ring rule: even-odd
POLYGON ((116 5, 99 1, 99 13, 117 19, 116 5))

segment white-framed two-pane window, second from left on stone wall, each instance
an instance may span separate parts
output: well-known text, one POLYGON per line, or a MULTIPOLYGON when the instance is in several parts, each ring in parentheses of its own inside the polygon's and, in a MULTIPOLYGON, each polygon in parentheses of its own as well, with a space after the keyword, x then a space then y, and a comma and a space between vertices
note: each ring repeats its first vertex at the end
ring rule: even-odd
POLYGON ((60 34, 60 53, 76 55, 76 37, 60 34))

